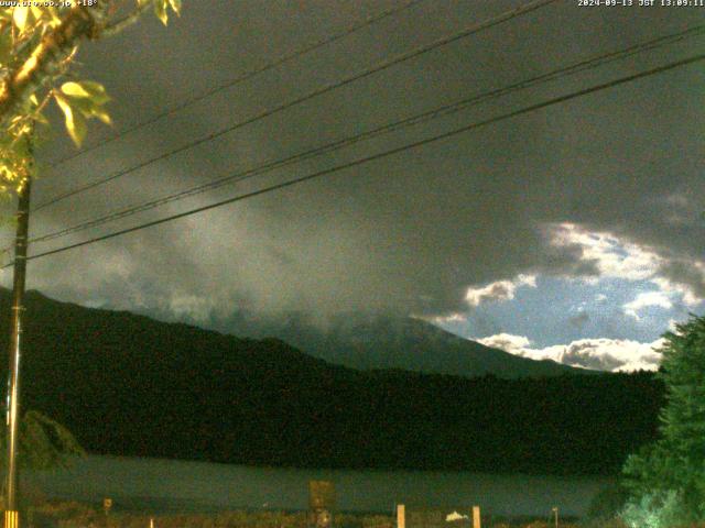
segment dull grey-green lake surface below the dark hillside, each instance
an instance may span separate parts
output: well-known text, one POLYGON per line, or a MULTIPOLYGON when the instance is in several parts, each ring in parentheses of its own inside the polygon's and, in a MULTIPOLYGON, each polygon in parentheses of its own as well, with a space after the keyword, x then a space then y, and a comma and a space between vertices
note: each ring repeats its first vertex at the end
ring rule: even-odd
POLYGON ((87 457, 68 470, 28 473, 50 497, 144 513, 307 507, 307 482, 335 483, 341 512, 392 513, 397 504, 464 507, 490 515, 582 516, 609 479, 468 472, 292 470, 161 459, 87 457))

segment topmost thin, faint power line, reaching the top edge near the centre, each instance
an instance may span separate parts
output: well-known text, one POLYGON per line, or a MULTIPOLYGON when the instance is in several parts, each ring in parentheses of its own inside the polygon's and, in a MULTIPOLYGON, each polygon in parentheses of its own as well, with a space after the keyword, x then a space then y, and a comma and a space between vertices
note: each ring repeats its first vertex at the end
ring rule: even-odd
POLYGON ((95 151, 96 148, 100 148, 101 146, 105 146, 109 143, 112 143, 113 141, 117 141, 121 138, 124 138, 128 134, 131 134, 132 132, 135 132, 138 130, 141 130, 145 127, 149 127, 150 124, 154 124, 158 121, 161 121, 162 119, 169 118, 170 116, 173 116, 174 113, 184 110, 199 101, 203 101, 204 99, 207 99, 209 97, 215 96, 216 94, 227 90, 228 88, 232 88, 234 86, 237 86, 241 82, 245 82, 246 80, 249 80, 253 77, 257 77, 260 74, 264 74, 267 72, 269 72, 270 69, 274 69, 279 66, 282 66, 283 64, 286 64, 291 61, 294 61, 299 57, 302 57, 304 55, 307 55, 312 52, 315 52, 322 47, 325 47, 329 44, 333 44, 336 41, 339 41, 341 38, 345 38, 348 35, 351 35, 352 33, 356 33, 357 31, 360 31, 369 25, 375 24, 376 22, 379 22, 380 20, 383 20, 388 16, 392 16, 394 14, 399 14, 402 11, 405 11, 406 9, 415 6, 416 3, 421 3, 425 0, 410 0, 405 3, 402 3, 399 7, 395 8, 390 8, 387 9, 384 11, 381 11, 377 14, 373 14, 371 16, 367 16, 365 19, 362 19, 361 21, 358 21, 356 23, 354 23, 352 25, 350 25, 349 28, 346 28, 345 30, 343 30, 339 33, 336 33, 334 35, 330 35, 326 38, 323 38, 321 41, 317 41, 308 46, 304 46, 300 50, 296 50, 292 53, 285 54, 285 55, 281 55, 279 57, 276 57, 274 61, 271 61, 269 63, 265 63, 261 66, 258 66, 256 68, 252 68, 250 70, 247 70, 242 74, 240 74, 239 76, 235 77, 234 79, 228 80, 227 82, 224 82, 215 88, 212 88, 209 90, 204 91, 203 94, 199 94, 198 96, 192 97, 189 99, 184 100, 183 102, 178 103, 178 105, 174 105, 171 108, 167 108, 166 110, 164 110, 163 112, 158 113, 156 116, 148 119, 147 121, 143 121, 141 123, 137 123, 133 127, 129 127, 109 138, 106 138, 102 141, 99 141, 98 143, 86 147, 79 152, 76 152, 75 154, 72 154, 69 156, 63 157, 56 162, 54 162, 50 168, 55 168, 59 165, 63 165, 66 162, 69 162, 72 160, 75 160, 76 157, 83 156, 84 154, 87 154, 89 152, 95 151))

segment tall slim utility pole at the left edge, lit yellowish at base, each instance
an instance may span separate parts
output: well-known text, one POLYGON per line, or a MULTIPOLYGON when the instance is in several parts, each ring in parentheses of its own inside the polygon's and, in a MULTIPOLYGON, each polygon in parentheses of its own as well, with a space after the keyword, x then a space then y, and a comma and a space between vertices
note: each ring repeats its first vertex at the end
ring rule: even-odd
POLYGON ((8 372, 8 475, 6 482, 4 528, 19 528, 18 513, 18 421, 20 419, 20 351, 22 344, 22 316, 24 311, 24 283, 26 278, 26 246, 30 230, 30 191, 32 179, 19 193, 18 226, 14 237, 14 276, 12 279, 12 315, 10 329, 10 362, 8 372))

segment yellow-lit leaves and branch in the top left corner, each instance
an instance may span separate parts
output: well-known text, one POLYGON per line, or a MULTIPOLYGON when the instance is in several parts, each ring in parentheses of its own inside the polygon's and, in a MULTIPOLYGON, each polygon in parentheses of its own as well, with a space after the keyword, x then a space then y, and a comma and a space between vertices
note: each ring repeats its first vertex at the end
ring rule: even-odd
POLYGON ((31 138, 46 125, 44 111, 54 102, 76 145, 87 121, 110 123, 105 88, 73 70, 85 41, 115 34, 148 9, 166 24, 181 0, 17 2, 0 8, 0 195, 17 191, 32 175, 31 138), (25 6, 26 3, 26 6, 25 6), (52 4, 53 3, 53 4, 52 4))

